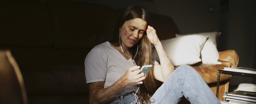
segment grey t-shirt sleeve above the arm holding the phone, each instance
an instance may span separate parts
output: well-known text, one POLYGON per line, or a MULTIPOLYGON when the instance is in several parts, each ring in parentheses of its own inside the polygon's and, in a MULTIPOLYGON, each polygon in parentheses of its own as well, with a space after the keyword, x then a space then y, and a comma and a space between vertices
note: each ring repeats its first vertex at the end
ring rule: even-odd
POLYGON ((99 49, 92 49, 84 61, 86 83, 105 81, 106 55, 99 49))

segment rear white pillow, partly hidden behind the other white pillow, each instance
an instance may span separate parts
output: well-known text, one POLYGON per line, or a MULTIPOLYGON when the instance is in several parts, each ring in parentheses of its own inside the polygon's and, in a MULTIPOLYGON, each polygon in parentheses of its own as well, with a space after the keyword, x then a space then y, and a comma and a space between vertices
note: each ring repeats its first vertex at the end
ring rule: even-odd
POLYGON ((204 47, 201 50, 201 59, 204 64, 222 64, 219 62, 219 52, 217 50, 216 38, 219 37, 221 32, 205 32, 205 33, 194 33, 194 34, 176 34, 176 37, 187 36, 187 35, 203 35, 208 36, 204 47))

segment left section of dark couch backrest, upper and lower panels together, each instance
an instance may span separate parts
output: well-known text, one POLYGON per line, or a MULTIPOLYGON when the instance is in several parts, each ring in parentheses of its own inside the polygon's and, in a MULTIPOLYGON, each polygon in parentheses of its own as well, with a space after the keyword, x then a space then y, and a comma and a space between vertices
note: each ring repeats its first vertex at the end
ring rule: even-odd
POLYGON ((61 64, 44 1, 10 0, 0 7, 0 49, 10 49, 18 64, 61 64))

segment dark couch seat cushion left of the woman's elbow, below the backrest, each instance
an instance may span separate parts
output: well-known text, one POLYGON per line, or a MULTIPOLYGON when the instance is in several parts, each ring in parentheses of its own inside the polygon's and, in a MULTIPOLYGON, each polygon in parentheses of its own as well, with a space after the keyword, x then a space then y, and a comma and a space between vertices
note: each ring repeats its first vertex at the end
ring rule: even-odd
POLYGON ((84 67, 63 65, 20 66, 27 94, 89 93, 84 67))

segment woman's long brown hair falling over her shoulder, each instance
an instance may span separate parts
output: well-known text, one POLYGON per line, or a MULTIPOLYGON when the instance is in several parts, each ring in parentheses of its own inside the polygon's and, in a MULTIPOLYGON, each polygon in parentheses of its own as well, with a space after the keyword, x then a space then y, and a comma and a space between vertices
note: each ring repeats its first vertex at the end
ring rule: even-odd
MULTIPOLYGON (((119 29, 122 27, 125 21, 134 19, 134 18, 141 18, 142 20, 145 20, 147 25, 150 25, 149 21, 149 15, 145 8, 138 5, 131 5, 128 6, 119 16, 116 28, 115 28, 115 35, 110 42, 115 46, 120 46, 119 43, 119 29)), ((143 65, 152 65, 153 64, 153 53, 154 53, 154 46, 152 43, 150 43, 149 39, 147 38, 146 32, 144 32, 142 38, 136 43, 138 45, 138 54, 135 57, 135 62, 138 66, 143 65)), ((137 52, 137 45, 134 45, 130 48, 130 53, 132 54, 132 57, 135 56, 137 52)), ((146 79, 143 81, 143 84, 140 85, 141 90, 141 103, 150 103, 151 96, 155 93, 157 88, 159 87, 157 84, 157 80, 154 76, 154 70, 153 68, 146 76, 146 79)))

